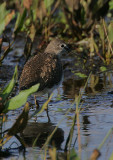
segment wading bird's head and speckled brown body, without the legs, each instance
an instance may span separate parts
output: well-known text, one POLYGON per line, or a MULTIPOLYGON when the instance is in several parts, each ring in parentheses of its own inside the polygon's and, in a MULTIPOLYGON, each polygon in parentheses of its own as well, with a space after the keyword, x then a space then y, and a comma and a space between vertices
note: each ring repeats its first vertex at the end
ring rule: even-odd
POLYGON ((68 47, 63 41, 55 39, 49 43, 44 53, 28 60, 20 76, 20 90, 39 83, 38 93, 51 93, 62 80, 63 71, 59 55, 67 50, 68 47))

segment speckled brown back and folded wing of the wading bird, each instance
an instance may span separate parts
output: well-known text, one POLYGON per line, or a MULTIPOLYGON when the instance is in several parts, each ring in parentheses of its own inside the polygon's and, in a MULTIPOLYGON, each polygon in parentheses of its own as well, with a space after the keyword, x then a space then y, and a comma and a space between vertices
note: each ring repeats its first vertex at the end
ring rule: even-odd
POLYGON ((35 55, 24 66, 20 90, 40 83, 38 91, 58 85, 62 79, 62 65, 58 56, 48 53, 35 55))

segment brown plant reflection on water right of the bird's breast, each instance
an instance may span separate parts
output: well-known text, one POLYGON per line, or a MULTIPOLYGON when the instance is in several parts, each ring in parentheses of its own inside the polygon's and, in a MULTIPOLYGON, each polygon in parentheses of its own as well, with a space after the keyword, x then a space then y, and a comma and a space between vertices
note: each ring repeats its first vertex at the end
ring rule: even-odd
MULTIPOLYGON (((75 96, 79 95, 80 90, 83 90, 87 78, 77 78, 72 76, 69 79, 63 81, 63 95, 64 99, 75 99, 75 96)), ((90 95, 100 93, 102 91, 107 91, 107 88, 112 89, 112 72, 106 72, 102 74, 90 76, 90 80, 85 88, 85 94, 90 95)), ((108 91, 107 91, 108 92, 108 91)))

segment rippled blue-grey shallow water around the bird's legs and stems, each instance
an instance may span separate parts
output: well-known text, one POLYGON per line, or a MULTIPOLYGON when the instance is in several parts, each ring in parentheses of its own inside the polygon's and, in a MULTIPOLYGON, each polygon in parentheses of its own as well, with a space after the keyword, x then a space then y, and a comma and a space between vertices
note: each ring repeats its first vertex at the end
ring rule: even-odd
MULTIPOLYGON (((22 43, 16 44, 14 51, 11 52, 3 61, 3 65, 0 68, 1 88, 8 83, 13 75, 14 66, 18 64, 18 61, 16 62, 15 60, 18 59, 23 52, 21 45, 23 46, 22 43)), ((63 58, 63 63, 65 63, 65 61, 66 63, 69 63, 72 62, 72 59, 70 57, 68 57, 67 60, 63 58)), ((42 114, 30 120, 27 128, 24 130, 24 134, 22 135, 22 138, 25 140, 28 146, 26 151, 24 152, 23 149, 20 148, 20 142, 13 137, 4 145, 4 148, 9 149, 10 147, 9 153, 11 156, 8 155, 8 157, 4 159, 11 159, 12 157, 18 159, 37 159, 37 156, 39 156, 38 159, 42 159, 43 154, 40 154, 40 148, 45 143, 48 135, 54 130, 55 126, 57 126, 59 121, 64 118, 67 110, 72 107, 71 111, 65 116, 64 120, 62 120, 61 124, 58 126, 56 135, 53 136, 53 140, 57 142, 56 145, 59 153, 63 154, 66 139, 72 125, 72 119, 75 114, 76 105, 73 105, 73 101, 75 97, 78 96, 79 91, 83 91, 86 83, 86 78, 81 79, 71 73, 69 65, 67 68, 65 68, 63 83, 60 85, 58 90, 56 89, 54 91, 52 101, 49 103, 49 115, 51 123, 47 123, 48 120, 46 112, 43 112, 42 114), (32 144, 38 134, 41 136, 33 148, 32 144)), ((19 69, 21 70, 21 68, 22 66, 20 63, 19 69)), ((79 115, 81 159, 83 160, 89 158, 92 151, 102 143, 107 132, 112 127, 113 94, 111 91, 113 91, 113 71, 98 75, 91 75, 88 85, 85 88, 85 92, 83 92, 82 111, 79 115)), ((18 89, 16 92, 18 93, 18 89)), ((39 97, 39 99, 40 105, 42 105, 47 100, 47 96, 45 95, 43 97, 39 97)), ((29 97, 29 102, 34 104, 34 99, 32 96, 29 97)), ((35 109, 31 109, 30 114, 34 110, 35 109)), ((21 112, 22 108, 16 111, 8 112, 7 121, 3 124, 2 130, 4 131, 10 128, 21 112)), ((72 146, 74 145, 76 152, 78 152, 78 141, 76 141, 76 137, 77 125, 75 124, 72 146)), ((106 160, 108 157, 110 157, 113 151, 112 146, 113 137, 110 135, 100 150, 101 156, 99 160, 106 160)))

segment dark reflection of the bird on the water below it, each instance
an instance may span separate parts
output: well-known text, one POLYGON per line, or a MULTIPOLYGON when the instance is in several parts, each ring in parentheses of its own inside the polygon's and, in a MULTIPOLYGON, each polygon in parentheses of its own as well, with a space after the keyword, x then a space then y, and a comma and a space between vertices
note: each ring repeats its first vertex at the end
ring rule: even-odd
MULTIPOLYGON (((32 147, 34 141, 38 137, 35 146, 41 148, 55 127, 56 126, 53 126, 53 123, 28 123, 27 127, 23 131, 22 138, 27 146, 32 147)), ((58 128, 50 141, 50 145, 55 145, 58 149, 61 149, 63 141, 64 131, 61 128, 58 128)))

